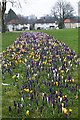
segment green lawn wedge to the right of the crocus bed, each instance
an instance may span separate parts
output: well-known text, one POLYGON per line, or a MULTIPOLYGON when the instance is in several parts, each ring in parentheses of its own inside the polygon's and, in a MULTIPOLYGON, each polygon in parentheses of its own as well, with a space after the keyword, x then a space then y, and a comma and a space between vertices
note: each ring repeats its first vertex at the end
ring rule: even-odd
POLYGON ((66 43, 76 53, 78 52, 78 29, 42 30, 55 39, 66 43))

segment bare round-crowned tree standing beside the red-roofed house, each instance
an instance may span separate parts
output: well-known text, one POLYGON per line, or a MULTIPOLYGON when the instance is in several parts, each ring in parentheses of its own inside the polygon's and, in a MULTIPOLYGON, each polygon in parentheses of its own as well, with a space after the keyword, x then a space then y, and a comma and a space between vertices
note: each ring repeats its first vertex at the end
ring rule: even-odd
POLYGON ((58 0, 52 8, 52 15, 59 21, 59 28, 64 28, 64 20, 73 16, 73 7, 65 0, 58 0))

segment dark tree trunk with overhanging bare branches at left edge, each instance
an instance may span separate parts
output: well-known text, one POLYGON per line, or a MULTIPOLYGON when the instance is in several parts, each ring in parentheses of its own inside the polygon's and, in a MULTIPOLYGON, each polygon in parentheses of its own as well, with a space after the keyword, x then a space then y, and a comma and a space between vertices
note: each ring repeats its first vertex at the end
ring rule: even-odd
MULTIPOLYGON (((25 2, 26 0, 24 0, 25 2)), ((16 4, 18 7, 22 8, 21 3, 19 0, 2 0, 1 7, 2 7, 2 32, 5 32, 5 23, 4 23, 4 17, 5 17, 5 11, 6 11, 6 5, 7 2, 10 2, 12 4, 12 7, 16 4)))

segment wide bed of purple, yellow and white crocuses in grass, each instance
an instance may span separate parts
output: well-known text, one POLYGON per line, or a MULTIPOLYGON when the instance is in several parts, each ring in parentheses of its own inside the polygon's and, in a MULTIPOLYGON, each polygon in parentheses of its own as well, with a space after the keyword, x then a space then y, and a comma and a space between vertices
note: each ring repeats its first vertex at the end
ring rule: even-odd
POLYGON ((25 32, 1 58, 2 82, 9 84, 3 86, 3 95, 14 94, 12 88, 17 95, 6 100, 7 117, 75 117, 78 56, 65 43, 45 33, 25 32))

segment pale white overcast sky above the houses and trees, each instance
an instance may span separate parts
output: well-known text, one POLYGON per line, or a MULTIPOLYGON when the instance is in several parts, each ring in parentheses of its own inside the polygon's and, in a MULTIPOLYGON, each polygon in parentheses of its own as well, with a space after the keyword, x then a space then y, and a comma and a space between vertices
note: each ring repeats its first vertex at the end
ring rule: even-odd
MULTIPOLYGON (((18 2, 18 0, 16 0, 18 2)), ((22 9, 18 7, 12 7, 11 4, 7 3, 6 13, 12 8, 16 14, 21 14, 24 16, 35 15, 38 18, 46 14, 51 14, 51 9, 55 5, 57 0, 19 0, 22 9), (26 4, 24 1, 27 1, 26 4)), ((78 1, 79 0, 67 0, 70 2, 75 10, 75 14, 78 14, 78 1)))

